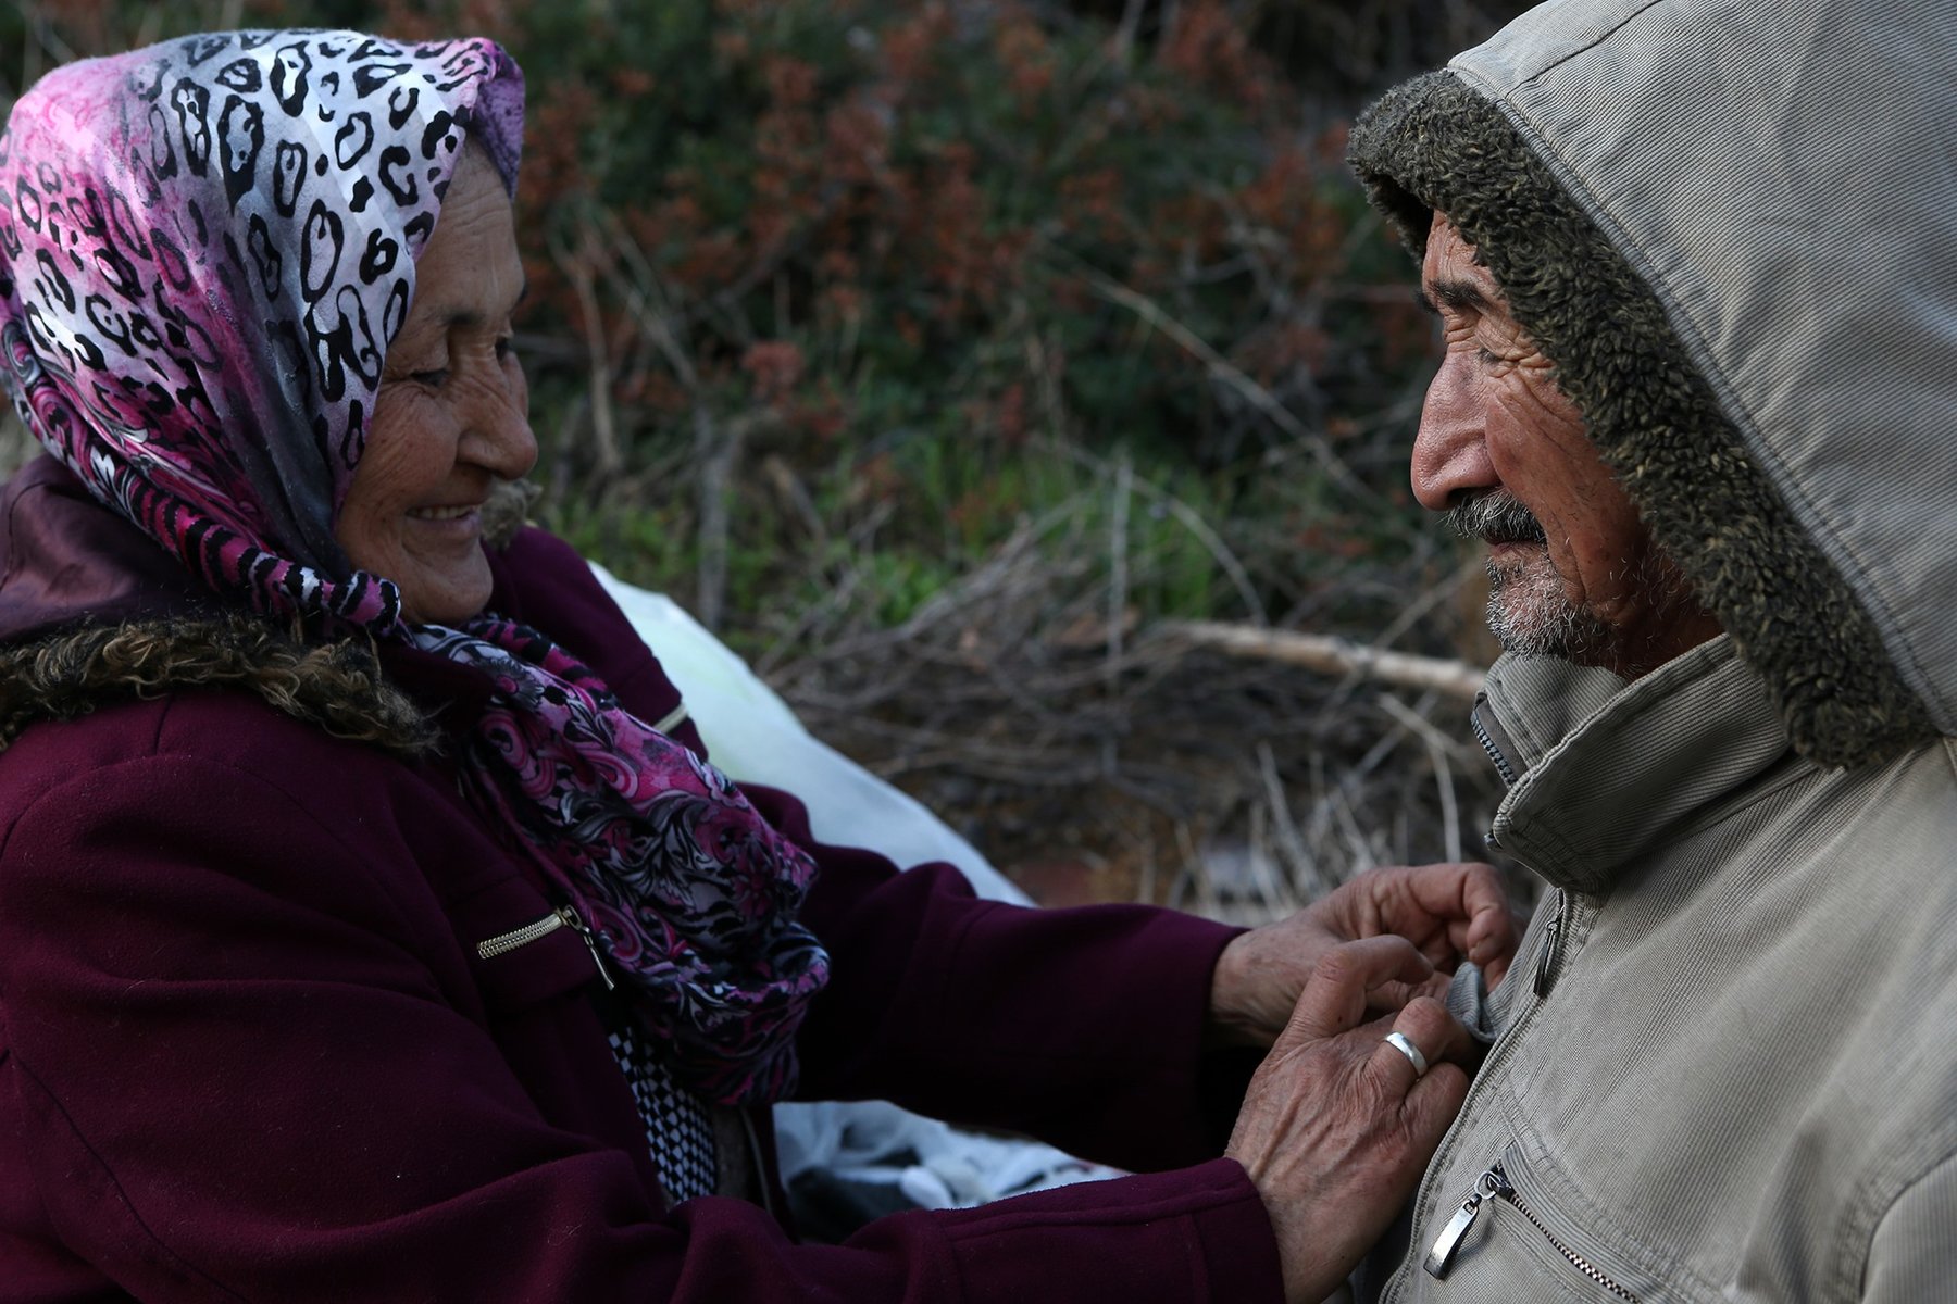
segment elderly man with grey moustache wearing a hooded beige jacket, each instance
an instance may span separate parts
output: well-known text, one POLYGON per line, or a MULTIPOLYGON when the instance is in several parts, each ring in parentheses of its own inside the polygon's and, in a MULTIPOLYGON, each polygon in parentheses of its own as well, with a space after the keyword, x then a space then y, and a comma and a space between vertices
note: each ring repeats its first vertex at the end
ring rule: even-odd
POLYGON ((1957 1298, 1957 8, 1568 0, 1352 162, 1548 891, 1366 1292, 1957 1298))

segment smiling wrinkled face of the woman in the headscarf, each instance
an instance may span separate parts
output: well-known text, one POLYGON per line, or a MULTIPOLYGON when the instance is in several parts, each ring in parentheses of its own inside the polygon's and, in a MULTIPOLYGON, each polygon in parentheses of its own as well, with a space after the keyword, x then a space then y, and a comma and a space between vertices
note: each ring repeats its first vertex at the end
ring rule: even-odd
POLYGON ((511 350, 523 299, 517 223, 495 164, 468 147, 415 264, 366 452, 333 536, 391 579, 415 624, 460 624, 489 600, 481 506, 536 461, 530 391, 511 350))

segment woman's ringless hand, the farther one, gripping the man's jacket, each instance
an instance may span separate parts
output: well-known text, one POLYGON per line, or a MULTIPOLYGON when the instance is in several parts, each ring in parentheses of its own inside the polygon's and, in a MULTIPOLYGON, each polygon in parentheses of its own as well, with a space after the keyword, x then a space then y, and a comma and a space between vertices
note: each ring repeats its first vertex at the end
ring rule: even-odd
MULTIPOLYGON (((1319 958, 1341 942, 1399 935, 1446 987, 1462 960, 1481 966, 1493 987, 1515 958, 1515 919, 1501 880, 1485 864, 1421 864, 1368 870, 1290 919, 1237 936, 1209 981, 1213 1044, 1270 1046, 1319 958)), ((1386 985, 1374 1009, 1399 1009, 1419 989, 1386 985)))

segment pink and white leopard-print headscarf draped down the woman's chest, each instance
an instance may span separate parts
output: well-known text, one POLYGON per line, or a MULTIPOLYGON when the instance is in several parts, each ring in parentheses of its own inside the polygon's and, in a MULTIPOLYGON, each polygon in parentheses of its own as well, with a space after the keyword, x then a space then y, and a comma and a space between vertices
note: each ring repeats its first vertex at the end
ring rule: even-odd
POLYGON ((781 1099, 828 978, 814 864, 548 635, 409 626, 333 524, 464 139, 515 190, 491 41, 186 37, 49 72, 0 135, 0 379, 27 428, 204 585, 493 684, 462 788, 599 931, 675 1071, 781 1099))

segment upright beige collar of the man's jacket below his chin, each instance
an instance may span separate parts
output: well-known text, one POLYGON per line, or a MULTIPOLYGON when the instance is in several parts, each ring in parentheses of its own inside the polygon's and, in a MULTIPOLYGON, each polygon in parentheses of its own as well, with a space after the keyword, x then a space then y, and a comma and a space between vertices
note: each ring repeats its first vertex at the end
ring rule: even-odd
POLYGON ((1515 774, 1489 845, 1552 886, 1601 895, 1624 864, 1750 800, 1793 755, 1773 696, 1720 635, 1626 684, 1609 671, 1503 657, 1476 706, 1515 774))

